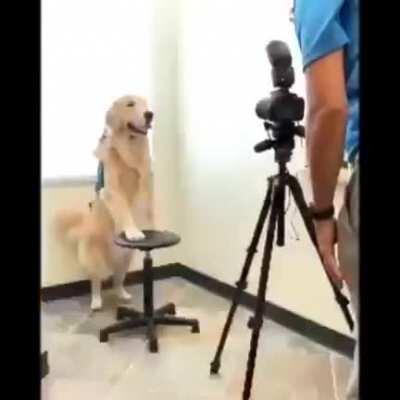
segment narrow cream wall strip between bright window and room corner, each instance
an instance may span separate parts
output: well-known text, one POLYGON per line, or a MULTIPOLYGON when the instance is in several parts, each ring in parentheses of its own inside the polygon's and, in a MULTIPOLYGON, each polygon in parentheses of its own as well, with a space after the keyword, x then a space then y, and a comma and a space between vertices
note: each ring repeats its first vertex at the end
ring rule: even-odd
MULTIPOLYGON (((154 173, 155 193, 160 201, 156 207, 160 228, 181 231, 178 47, 179 0, 152 0, 151 8, 151 102, 154 108, 154 173), (162 201, 161 201, 162 199, 162 201)), ((181 246, 168 250, 174 261, 181 246)))

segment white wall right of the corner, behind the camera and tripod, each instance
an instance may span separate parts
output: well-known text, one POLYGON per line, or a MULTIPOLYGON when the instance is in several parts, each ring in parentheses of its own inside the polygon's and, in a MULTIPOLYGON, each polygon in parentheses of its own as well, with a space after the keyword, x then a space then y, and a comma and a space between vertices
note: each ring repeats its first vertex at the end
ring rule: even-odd
MULTIPOLYGON (((262 205, 266 178, 276 172, 273 153, 253 152, 253 145, 265 138, 254 108, 272 89, 265 53, 270 40, 289 44, 296 69, 293 91, 304 96, 301 58, 289 21, 291 1, 184 0, 181 5, 183 262, 233 284, 262 205)), ((303 166, 304 148, 298 145, 290 169, 304 176, 303 166)), ((291 209, 288 215, 287 246, 274 251, 267 298, 347 333, 298 213, 291 209), (293 239, 290 221, 299 241, 293 239)), ((254 294, 262 248, 249 278, 254 294)))

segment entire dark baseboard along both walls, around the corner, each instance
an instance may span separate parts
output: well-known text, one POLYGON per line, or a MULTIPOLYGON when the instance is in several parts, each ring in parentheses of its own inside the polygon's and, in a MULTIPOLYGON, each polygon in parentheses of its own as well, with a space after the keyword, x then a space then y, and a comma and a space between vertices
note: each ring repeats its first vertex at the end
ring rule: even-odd
MULTIPOLYGON (((236 289, 235 286, 219 281, 211 276, 199 272, 193 268, 187 267, 180 263, 168 264, 154 268, 154 278, 156 280, 179 277, 186 279, 190 283, 200 286, 218 296, 222 296, 231 300, 236 289)), ((127 285, 134 285, 143 282, 142 271, 129 272, 126 277, 127 285)), ((104 282, 103 287, 110 288, 111 281, 104 282)), ((70 298, 75 296, 83 296, 90 293, 89 281, 78 281, 45 287, 41 290, 42 301, 51 301, 62 298, 70 298)), ((250 310, 255 309, 257 298, 248 292, 243 292, 240 304, 250 310)), ((279 307, 271 302, 266 302, 264 315, 274 322, 282 325, 290 330, 299 333, 308 339, 321 344, 337 353, 352 357, 355 341, 351 337, 337 332, 326 326, 320 325, 310 319, 295 314, 285 308, 279 307)))

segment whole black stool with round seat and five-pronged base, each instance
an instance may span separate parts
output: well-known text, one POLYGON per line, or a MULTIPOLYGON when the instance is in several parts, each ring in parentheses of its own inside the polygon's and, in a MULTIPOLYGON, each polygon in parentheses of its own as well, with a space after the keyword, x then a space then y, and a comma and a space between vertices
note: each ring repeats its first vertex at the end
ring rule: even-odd
POLYGON ((186 319, 175 317, 175 304, 168 303, 165 306, 154 310, 153 304, 153 259, 151 251, 163 247, 170 247, 180 242, 180 237, 172 232, 161 232, 154 230, 143 231, 145 239, 139 241, 129 241, 125 237, 118 237, 115 243, 118 246, 144 251, 143 260, 143 312, 128 307, 118 307, 117 320, 120 322, 100 330, 100 342, 108 341, 111 333, 147 327, 147 338, 151 353, 158 352, 158 340, 156 336, 157 325, 182 325, 191 326, 193 333, 200 332, 199 321, 197 319, 186 319))

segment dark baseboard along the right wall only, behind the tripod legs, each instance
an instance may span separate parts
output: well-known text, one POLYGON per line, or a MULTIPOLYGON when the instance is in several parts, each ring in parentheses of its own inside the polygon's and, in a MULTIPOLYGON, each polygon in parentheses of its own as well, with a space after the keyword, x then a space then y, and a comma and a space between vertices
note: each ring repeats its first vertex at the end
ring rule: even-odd
MULTIPOLYGON (((218 279, 184 265, 181 265, 180 272, 183 278, 197 286, 228 300, 233 298, 236 286, 219 281, 218 279)), ((257 297, 255 295, 243 292, 240 299, 240 304, 242 306, 254 311, 256 302, 257 297)), ((355 342, 354 339, 349 336, 320 325, 317 322, 295 314, 269 301, 266 302, 264 315, 279 325, 285 326, 316 343, 352 358, 355 342)))

